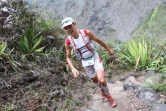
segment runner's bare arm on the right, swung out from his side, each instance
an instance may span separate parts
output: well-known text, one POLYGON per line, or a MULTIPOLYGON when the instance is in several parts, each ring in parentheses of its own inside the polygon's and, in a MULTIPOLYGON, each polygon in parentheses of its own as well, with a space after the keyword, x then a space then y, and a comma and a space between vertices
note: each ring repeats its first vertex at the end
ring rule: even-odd
POLYGON ((112 56, 114 56, 114 52, 99 38, 97 38, 95 35, 93 35, 92 32, 90 32, 89 30, 87 31, 87 34, 88 34, 88 37, 91 39, 91 40, 94 40, 96 41, 98 44, 100 44, 102 47, 104 47, 108 53, 112 56))

